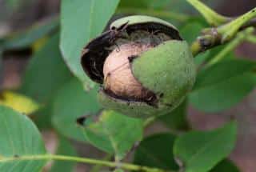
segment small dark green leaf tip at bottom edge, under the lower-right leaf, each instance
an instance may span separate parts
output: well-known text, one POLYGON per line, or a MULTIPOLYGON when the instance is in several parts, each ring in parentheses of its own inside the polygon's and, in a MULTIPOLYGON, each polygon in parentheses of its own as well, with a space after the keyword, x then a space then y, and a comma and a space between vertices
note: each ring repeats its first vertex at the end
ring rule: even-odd
POLYGON ((214 166, 210 172, 239 172, 237 166, 233 162, 230 162, 228 159, 224 159, 222 162, 219 162, 217 166, 214 166))

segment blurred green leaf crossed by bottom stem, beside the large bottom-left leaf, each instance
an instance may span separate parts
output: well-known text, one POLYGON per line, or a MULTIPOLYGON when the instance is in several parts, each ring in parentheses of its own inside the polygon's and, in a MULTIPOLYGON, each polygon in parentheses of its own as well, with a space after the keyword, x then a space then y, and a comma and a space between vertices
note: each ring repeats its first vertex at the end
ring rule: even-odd
MULTIPOLYGON (((66 138, 60 138, 58 141, 57 154, 77 156, 74 147, 70 144, 66 138)), ((50 172, 70 172, 74 171, 75 162, 55 161, 54 165, 50 168, 50 172)))

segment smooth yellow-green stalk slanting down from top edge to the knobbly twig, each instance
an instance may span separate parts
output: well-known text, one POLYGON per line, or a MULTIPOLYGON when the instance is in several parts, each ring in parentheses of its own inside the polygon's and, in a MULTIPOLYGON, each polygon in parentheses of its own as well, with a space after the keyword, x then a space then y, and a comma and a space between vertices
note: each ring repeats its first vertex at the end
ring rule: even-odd
POLYGON ((189 2, 199 13, 202 14, 206 21, 211 26, 220 26, 229 21, 229 18, 222 16, 221 14, 216 13, 214 10, 211 10, 210 7, 206 6, 204 3, 198 0, 186 0, 189 2))

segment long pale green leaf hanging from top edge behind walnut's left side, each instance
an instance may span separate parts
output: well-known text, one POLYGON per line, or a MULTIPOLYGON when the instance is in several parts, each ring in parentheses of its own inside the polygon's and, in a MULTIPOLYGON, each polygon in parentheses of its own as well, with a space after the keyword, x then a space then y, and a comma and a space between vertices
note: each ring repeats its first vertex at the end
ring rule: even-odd
POLYGON ((70 70, 86 86, 94 86, 94 83, 82 70, 80 64, 82 48, 90 38, 102 32, 111 15, 114 14, 118 2, 118 0, 62 0, 60 44, 62 55, 70 70))

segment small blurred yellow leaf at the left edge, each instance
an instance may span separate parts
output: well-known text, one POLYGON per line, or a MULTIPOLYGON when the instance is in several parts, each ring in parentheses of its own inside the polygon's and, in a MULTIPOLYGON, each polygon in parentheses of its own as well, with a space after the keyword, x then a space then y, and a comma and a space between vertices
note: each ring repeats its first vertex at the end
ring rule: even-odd
POLYGON ((7 90, 0 93, 0 105, 8 106, 24 114, 32 114, 40 108, 38 103, 32 99, 7 90))

